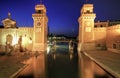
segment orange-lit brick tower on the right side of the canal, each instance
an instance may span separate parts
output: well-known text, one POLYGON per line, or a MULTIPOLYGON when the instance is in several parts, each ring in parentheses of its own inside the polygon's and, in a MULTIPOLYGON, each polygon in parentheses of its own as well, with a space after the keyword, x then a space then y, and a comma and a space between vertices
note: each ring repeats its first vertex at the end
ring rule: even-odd
POLYGON ((93 4, 84 4, 81 9, 79 22, 79 43, 78 50, 94 49, 94 19, 93 4))

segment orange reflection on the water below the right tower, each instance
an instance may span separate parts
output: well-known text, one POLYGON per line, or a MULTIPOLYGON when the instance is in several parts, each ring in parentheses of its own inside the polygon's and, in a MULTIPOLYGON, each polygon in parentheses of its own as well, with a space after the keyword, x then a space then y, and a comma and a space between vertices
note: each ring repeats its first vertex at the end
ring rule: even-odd
POLYGON ((84 53, 80 53, 79 57, 80 78, 115 78, 84 53))

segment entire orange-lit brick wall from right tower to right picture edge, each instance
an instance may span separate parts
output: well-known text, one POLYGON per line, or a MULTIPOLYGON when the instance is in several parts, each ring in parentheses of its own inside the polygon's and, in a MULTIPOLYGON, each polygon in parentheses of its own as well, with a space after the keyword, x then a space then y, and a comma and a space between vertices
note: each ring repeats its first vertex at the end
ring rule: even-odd
POLYGON ((94 28, 95 48, 120 52, 120 24, 94 28))

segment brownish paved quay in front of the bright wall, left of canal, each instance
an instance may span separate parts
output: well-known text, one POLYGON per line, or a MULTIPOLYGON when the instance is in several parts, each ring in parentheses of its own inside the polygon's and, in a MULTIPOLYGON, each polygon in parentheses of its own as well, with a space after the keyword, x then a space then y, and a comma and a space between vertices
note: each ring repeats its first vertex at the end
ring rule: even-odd
POLYGON ((23 61, 28 60, 33 54, 16 52, 11 56, 0 56, 0 78, 10 78, 20 68, 24 67, 23 61))

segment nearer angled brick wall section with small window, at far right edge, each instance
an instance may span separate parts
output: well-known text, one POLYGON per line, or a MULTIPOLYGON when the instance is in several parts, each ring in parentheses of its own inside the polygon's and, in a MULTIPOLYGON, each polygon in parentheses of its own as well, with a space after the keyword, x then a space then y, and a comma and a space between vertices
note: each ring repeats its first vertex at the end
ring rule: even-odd
POLYGON ((120 24, 107 28, 106 44, 108 50, 120 53, 120 24))

